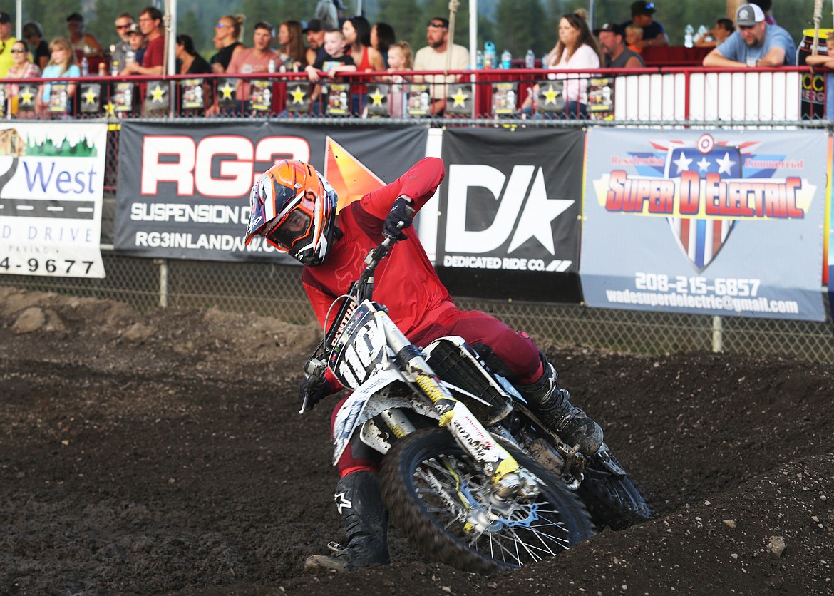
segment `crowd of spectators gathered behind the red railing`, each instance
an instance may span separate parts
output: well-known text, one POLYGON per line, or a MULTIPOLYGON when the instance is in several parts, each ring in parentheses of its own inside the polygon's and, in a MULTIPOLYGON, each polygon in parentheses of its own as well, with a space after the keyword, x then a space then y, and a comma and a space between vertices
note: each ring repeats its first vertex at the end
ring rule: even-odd
MULTIPOLYGON (((776 67, 794 63, 796 46, 790 34, 776 25, 770 9, 769 0, 756 0, 738 8, 735 23, 727 18, 717 18, 715 27, 696 43, 699 48, 712 48, 703 60, 704 66, 776 67)), ((257 110, 287 113, 282 112, 281 92, 276 93, 272 87, 275 83, 272 73, 304 73, 309 81, 306 96, 309 109, 301 112, 324 113, 329 105, 335 105, 328 97, 329 83, 344 82, 353 77, 347 100, 349 105, 344 107, 346 113, 367 114, 369 84, 387 83, 389 113, 402 115, 409 102, 406 85, 424 83, 421 101, 426 104, 426 115, 443 115, 450 83, 457 82, 460 77, 453 74, 411 75, 408 71, 469 68, 469 50, 449 43, 448 20, 442 17, 430 19, 426 26, 426 45, 413 53, 409 43, 397 40, 389 24, 372 25, 362 16, 345 18, 344 10, 344 4, 339 0, 319 0, 309 21, 286 20, 277 29, 266 21, 259 21, 252 29, 249 47, 246 45, 249 40, 244 41, 244 16, 224 15, 215 25, 215 53, 208 61, 196 51, 188 32, 182 32, 176 39, 176 73, 196 79, 175 83, 178 88, 174 94, 174 108, 181 109, 183 97, 188 94, 189 98, 198 97, 202 101, 202 104, 193 101, 188 104, 196 115, 246 116, 257 110), (391 74, 380 74, 386 71, 391 74), (356 78, 357 72, 376 74, 373 78, 356 78), (199 78, 210 73, 229 75, 229 78, 199 78), (268 83, 251 76, 234 77, 259 73, 267 73, 268 83), (224 93, 220 93, 220 83, 224 80, 228 82, 224 83, 224 93), (188 91, 183 87, 186 84, 188 91), (229 89, 234 90, 231 98, 227 97, 231 93, 229 89), (254 92, 258 94, 255 100, 254 92)), ((542 61, 542 67, 562 71, 548 76, 560 82, 561 98, 565 103, 562 117, 587 117, 588 79, 593 71, 643 68, 645 62, 641 53, 646 48, 668 45, 666 29, 655 19, 656 10, 655 3, 638 0, 631 4, 629 20, 604 23, 593 32, 583 11, 560 18, 555 46, 542 61)), ((158 8, 148 7, 138 13, 138 20, 134 21, 131 13, 121 13, 115 19, 114 27, 114 43, 108 52, 92 33, 85 31, 80 13, 68 16, 65 35, 47 43, 43 28, 35 22, 23 27, 23 40, 13 38, 12 19, 8 13, 0 12, 0 78, 55 79, 54 83, 38 85, 31 107, 27 101, 18 101, 20 83, 6 85, 3 98, 8 102, 9 113, 19 113, 21 118, 60 118, 65 113, 72 113, 78 108, 78 83, 64 79, 97 75, 112 75, 119 81, 142 75, 143 78, 128 89, 127 103, 133 103, 133 106, 126 110, 142 113, 143 105, 146 107, 143 102, 148 93, 148 77, 162 75, 166 69, 163 14, 158 8), (90 68, 91 64, 95 68, 90 68), (53 88, 58 90, 57 96, 52 93, 53 88)), ((819 63, 826 65, 826 61, 819 63)), ((281 78, 282 83, 275 84, 284 84, 287 79, 281 78)), ((105 101, 108 89, 114 93, 115 83, 111 81, 113 79, 103 84, 105 101)), ((553 84, 548 84, 552 90, 553 84)), ((540 85, 532 85, 525 91, 519 95, 518 113, 560 117, 555 113, 540 113, 540 85)))

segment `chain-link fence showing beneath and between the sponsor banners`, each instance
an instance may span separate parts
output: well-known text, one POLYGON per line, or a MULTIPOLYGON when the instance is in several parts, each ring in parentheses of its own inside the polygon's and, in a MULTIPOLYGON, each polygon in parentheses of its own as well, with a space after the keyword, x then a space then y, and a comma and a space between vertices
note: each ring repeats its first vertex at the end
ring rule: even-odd
MULTIPOLYGON (((132 258, 113 253, 118 127, 112 127, 108 135, 106 169, 101 242, 107 277, 0 275, 0 285, 118 300, 141 311, 160 306, 220 308, 281 318, 289 323, 314 320, 301 287, 300 267, 132 258)), ((646 354, 705 350, 771 353, 834 363, 834 327, 827 300, 826 320, 819 322, 470 298, 457 298, 456 302, 461 308, 490 313, 539 340, 561 344, 646 354)))

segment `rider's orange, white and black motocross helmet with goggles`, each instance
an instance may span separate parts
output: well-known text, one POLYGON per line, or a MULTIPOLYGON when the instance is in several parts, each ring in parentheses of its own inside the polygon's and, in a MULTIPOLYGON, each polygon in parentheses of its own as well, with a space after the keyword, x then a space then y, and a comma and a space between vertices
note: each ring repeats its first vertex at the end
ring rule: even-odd
POLYGON ((304 265, 320 265, 333 239, 336 201, 313 166, 282 159, 252 187, 246 243, 257 234, 304 265))

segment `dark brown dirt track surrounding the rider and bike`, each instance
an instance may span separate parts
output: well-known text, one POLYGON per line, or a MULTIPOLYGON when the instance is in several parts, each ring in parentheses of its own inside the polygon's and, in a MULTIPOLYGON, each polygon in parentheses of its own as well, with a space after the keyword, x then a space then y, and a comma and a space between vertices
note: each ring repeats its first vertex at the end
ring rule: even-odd
POLYGON ((834 593, 830 367, 555 346, 655 519, 491 578, 396 530, 389 568, 304 575, 342 538, 316 334, 0 287, 0 593, 834 593))

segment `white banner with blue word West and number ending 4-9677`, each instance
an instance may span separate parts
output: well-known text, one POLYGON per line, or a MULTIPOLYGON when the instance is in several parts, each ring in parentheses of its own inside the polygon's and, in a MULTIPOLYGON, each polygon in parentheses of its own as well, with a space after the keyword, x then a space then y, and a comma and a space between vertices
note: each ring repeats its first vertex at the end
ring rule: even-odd
POLYGON ((0 125, 0 273, 103 278, 106 124, 0 125))

